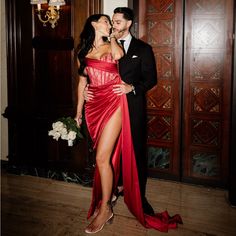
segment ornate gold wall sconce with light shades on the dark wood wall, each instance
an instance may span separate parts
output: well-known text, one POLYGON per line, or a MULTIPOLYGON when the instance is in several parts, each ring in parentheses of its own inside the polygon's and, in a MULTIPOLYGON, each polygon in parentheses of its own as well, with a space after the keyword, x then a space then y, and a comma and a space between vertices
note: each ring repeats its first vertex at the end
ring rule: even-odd
POLYGON ((46 24, 49 22, 51 24, 51 27, 54 29, 57 25, 57 21, 60 18, 60 6, 65 5, 64 0, 49 0, 48 3, 48 10, 46 11, 45 15, 42 17, 42 9, 41 4, 47 4, 47 0, 31 0, 30 4, 36 5, 37 4, 37 15, 39 20, 43 23, 43 26, 46 26, 46 24))

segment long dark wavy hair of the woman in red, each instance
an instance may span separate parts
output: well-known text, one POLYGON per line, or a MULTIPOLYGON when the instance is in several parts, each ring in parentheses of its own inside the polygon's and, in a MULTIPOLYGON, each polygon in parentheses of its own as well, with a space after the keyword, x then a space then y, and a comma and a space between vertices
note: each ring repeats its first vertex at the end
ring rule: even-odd
POLYGON ((95 39, 95 30, 94 30, 94 27, 92 26, 92 22, 98 22, 98 20, 102 16, 107 17, 107 19, 111 22, 110 17, 108 15, 105 15, 105 14, 91 15, 86 20, 84 28, 80 34, 80 43, 77 47, 78 59, 80 62, 80 67, 78 70, 79 75, 84 75, 84 68, 86 66, 85 57, 94 46, 93 42, 95 39))

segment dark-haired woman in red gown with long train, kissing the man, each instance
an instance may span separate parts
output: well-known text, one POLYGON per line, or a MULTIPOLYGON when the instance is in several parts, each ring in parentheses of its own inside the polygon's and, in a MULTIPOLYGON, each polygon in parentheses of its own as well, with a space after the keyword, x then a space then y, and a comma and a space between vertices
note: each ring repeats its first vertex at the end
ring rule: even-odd
POLYGON ((178 215, 170 219, 167 212, 154 217, 143 213, 127 100, 122 86, 119 87, 121 78, 117 65, 124 53, 116 40, 120 33, 110 34, 110 31, 109 17, 96 14, 87 19, 80 35, 80 78, 75 120, 80 126, 84 106, 83 92, 89 82, 93 99, 85 104, 85 119, 96 149, 93 197, 88 212, 88 218, 93 216, 93 220, 85 232, 99 232, 114 217, 110 200, 117 187, 121 154, 124 201, 129 210, 145 227, 168 231, 182 222, 178 215), (109 38, 110 41, 104 38, 109 38))

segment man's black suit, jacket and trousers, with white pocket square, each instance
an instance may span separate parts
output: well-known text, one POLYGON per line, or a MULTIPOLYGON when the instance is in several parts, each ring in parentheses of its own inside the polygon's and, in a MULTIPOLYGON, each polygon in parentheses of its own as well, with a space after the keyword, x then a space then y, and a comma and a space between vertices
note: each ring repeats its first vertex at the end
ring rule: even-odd
POLYGON ((157 84, 157 71, 152 47, 134 37, 127 54, 119 60, 121 79, 135 87, 136 94, 127 94, 131 133, 134 144, 141 193, 145 195, 146 158, 146 92, 157 84))

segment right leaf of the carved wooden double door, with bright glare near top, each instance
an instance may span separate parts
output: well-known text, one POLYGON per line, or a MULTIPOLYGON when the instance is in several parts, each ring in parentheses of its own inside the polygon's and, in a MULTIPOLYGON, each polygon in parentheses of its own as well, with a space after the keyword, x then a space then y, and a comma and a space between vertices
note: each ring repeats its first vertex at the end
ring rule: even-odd
POLYGON ((186 1, 185 180, 227 185, 232 27, 232 0, 186 1))

